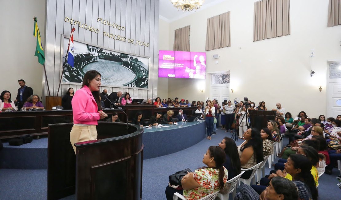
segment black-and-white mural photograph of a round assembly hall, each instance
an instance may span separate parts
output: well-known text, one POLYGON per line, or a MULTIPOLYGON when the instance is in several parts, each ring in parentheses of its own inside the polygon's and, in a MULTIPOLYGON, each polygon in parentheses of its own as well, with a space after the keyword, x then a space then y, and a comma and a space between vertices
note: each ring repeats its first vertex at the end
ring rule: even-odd
POLYGON ((81 84, 84 74, 97 70, 102 86, 148 88, 149 58, 111 51, 74 41, 74 67, 67 63, 69 39, 64 38, 62 84, 81 84))

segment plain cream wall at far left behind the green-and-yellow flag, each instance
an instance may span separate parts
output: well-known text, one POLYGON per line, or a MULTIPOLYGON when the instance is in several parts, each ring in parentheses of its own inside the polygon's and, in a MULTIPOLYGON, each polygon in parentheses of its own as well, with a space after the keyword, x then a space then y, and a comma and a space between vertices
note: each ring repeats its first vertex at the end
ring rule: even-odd
POLYGON ((38 18, 38 27, 43 34, 45 0, 1 1, 0 13, 0 92, 9 90, 11 100, 15 100, 20 87, 17 81, 24 79, 26 85, 33 88, 34 94, 41 96, 43 66, 34 56, 36 38, 33 37, 33 15, 38 18))

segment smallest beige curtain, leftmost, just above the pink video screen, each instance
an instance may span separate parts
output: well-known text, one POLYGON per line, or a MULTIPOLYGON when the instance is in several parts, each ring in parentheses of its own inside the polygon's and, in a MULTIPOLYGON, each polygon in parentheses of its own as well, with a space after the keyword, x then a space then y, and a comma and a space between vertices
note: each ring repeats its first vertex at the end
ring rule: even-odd
POLYGON ((175 30, 174 51, 190 51, 190 27, 186 26, 175 30))

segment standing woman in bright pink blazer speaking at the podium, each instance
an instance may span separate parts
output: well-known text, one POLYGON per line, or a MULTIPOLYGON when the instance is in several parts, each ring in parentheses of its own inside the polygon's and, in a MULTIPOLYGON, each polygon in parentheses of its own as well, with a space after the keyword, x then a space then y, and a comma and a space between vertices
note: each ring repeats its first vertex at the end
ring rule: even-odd
POLYGON ((82 87, 72 98, 73 127, 70 142, 76 153, 74 143, 97 140, 97 121, 107 117, 101 109, 100 102, 101 74, 98 71, 87 71, 82 87))

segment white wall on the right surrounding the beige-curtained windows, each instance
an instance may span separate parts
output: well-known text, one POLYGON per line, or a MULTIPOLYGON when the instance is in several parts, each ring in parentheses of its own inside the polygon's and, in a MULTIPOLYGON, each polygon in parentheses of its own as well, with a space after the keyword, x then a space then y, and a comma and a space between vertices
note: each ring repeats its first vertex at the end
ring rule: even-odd
MULTIPOLYGON (((231 47, 206 52, 207 72, 230 70, 230 87, 234 89, 234 93, 230 92, 231 99, 248 97, 254 102, 265 101, 268 109, 281 102, 293 115, 301 110, 310 117, 326 114, 327 61, 341 57, 341 26, 327 27, 328 1, 290 1, 291 35, 257 42, 253 42, 254 2, 224 1, 172 22, 169 44, 173 44, 175 29, 191 25, 191 51, 205 52, 207 18, 231 11, 231 47), (310 62, 311 49, 314 57, 310 62), (220 58, 213 59, 213 54, 219 54, 220 58), (219 64, 214 64, 216 60, 219 64), (313 77, 310 77, 310 63, 316 72, 313 77)), ((210 77, 206 77, 205 97, 210 94, 210 77)), ((170 96, 174 96, 174 91, 179 98, 177 92, 201 97, 195 92, 196 82, 189 81, 169 79, 170 96), (178 86, 183 90, 170 90, 178 86)))

